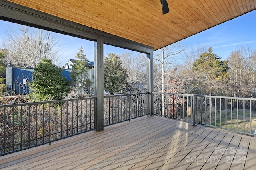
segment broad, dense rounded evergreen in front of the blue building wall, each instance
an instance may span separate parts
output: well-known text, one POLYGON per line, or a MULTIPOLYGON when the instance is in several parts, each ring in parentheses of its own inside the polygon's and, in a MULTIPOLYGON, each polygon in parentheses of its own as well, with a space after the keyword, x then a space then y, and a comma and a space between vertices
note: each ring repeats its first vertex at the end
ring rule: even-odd
POLYGON ((34 68, 34 81, 29 82, 32 101, 59 100, 69 92, 70 87, 62 75, 62 68, 52 64, 51 59, 42 59, 34 68))

